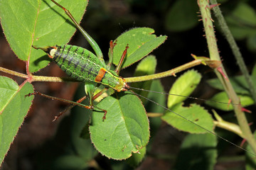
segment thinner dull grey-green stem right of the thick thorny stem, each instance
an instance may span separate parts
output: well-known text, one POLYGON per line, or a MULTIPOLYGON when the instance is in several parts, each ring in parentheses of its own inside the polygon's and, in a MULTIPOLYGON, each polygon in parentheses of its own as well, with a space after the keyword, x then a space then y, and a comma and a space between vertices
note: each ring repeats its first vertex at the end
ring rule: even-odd
MULTIPOLYGON (((217 4, 216 0, 210 0, 210 4, 217 4)), ((252 98, 254 101, 256 101, 256 89, 255 86, 252 83, 252 79, 250 77, 249 72, 247 71, 247 67, 245 65, 244 60, 242 60, 242 54, 238 48, 237 43, 235 42, 235 39, 233 38, 233 35, 230 32, 230 29, 227 26, 227 23, 225 22, 225 19, 220 11, 220 8, 218 6, 215 6, 213 8, 213 12, 215 14, 215 17, 218 21, 218 24, 223 32, 223 35, 227 39, 228 43, 230 44, 230 48, 233 52, 233 55, 235 56, 235 59, 237 60, 238 66, 240 67, 240 70, 242 74, 245 76, 245 81, 247 81, 247 84, 249 86, 249 90, 252 94, 252 98)))

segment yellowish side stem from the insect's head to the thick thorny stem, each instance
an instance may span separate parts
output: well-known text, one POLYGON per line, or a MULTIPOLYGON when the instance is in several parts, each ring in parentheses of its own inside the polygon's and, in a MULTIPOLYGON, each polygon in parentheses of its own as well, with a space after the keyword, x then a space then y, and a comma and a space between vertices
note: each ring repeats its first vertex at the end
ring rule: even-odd
POLYGON ((146 75, 141 77, 127 77, 125 78, 125 80, 128 83, 131 83, 131 82, 139 82, 139 81, 148 81, 151 79, 161 79, 163 77, 169 77, 169 76, 176 76, 176 73, 178 72, 182 72, 183 70, 186 70, 191 67, 195 67, 207 61, 209 61, 209 58, 207 57, 198 57, 198 59, 193 60, 192 62, 188 62, 186 64, 181 65, 180 67, 176 67, 175 69, 170 69, 166 72, 161 72, 161 73, 156 73, 156 74, 151 74, 151 75, 146 75))

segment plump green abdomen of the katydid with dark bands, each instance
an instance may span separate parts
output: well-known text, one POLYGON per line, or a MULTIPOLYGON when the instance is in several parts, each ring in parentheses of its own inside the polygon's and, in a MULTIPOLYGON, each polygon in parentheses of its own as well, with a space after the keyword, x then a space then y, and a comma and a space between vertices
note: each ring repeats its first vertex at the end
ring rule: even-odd
POLYGON ((100 60, 92 52, 75 45, 58 47, 53 60, 70 77, 79 81, 95 81, 102 68, 100 60))

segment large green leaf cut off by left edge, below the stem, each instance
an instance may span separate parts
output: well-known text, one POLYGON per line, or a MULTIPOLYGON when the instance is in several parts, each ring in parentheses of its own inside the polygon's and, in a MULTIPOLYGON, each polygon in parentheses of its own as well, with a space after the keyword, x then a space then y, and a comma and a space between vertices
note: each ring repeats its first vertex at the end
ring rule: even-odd
POLYGON ((32 104, 33 96, 25 97, 29 93, 33 86, 28 82, 18 86, 14 80, 0 77, 0 164, 32 104))

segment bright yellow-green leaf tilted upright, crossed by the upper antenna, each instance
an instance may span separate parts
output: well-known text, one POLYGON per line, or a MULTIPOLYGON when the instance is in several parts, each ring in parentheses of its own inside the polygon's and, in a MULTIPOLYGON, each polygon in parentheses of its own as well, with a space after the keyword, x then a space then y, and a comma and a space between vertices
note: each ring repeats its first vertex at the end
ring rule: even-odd
MULTIPOLYGON (((169 94, 178 94, 182 96, 189 96, 194 89, 196 89, 196 86, 201 81, 201 74, 196 72, 195 70, 191 69, 188 72, 185 72, 184 74, 179 77, 174 85, 171 87, 171 90, 169 91, 169 94)), ((172 106, 176 105, 177 103, 181 103, 181 101, 184 101, 186 98, 181 96, 168 96, 168 108, 171 108, 172 106)))

